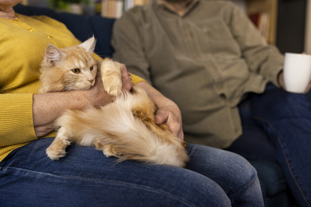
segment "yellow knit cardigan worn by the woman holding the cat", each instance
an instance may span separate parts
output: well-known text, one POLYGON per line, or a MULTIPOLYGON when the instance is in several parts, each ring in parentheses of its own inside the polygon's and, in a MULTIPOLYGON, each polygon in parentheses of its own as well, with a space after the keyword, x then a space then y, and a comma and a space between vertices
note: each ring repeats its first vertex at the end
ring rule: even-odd
MULTIPOLYGON (((47 16, 16 16, 14 20, 0 18, 0 162, 14 149, 38 139, 32 95, 40 85, 39 65, 46 46, 81 43, 63 23, 47 16)), ((133 76, 133 83, 142 80, 133 76)))

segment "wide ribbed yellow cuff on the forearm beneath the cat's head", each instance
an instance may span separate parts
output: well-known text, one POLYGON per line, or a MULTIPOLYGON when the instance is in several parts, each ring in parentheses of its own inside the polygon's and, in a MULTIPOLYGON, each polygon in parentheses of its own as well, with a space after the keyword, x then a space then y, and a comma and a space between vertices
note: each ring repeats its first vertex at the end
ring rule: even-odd
POLYGON ((0 94, 0 146, 36 140, 32 94, 0 94))

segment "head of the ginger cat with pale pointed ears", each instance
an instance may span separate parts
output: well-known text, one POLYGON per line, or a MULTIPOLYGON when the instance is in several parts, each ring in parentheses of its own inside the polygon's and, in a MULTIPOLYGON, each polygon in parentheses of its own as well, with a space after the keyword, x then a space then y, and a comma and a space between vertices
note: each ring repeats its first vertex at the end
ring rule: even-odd
POLYGON ((96 60, 92 56, 94 36, 85 42, 65 48, 49 44, 41 63, 39 93, 86 90, 95 84, 96 60))

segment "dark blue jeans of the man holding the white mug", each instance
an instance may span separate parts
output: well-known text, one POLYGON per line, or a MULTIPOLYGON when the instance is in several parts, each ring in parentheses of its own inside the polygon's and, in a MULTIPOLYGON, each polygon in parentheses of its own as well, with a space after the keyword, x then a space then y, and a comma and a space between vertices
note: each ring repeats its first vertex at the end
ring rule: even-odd
POLYGON ((235 149, 231 151, 247 159, 276 160, 281 165, 298 204, 301 207, 310 207, 311 101, 309 98, 303 94, 285 92, 281 88, 268 84, 263 94, 249 94, 248 98, 239 105, 239 110, 243 131, 246 131, 246 134, 233 143, 232 147, 235 149), (266 141, 259 137, 268 137, 266 139, 270 143, 265 143, 266 141), (261 146, 267 147, 262 149, 261 146))

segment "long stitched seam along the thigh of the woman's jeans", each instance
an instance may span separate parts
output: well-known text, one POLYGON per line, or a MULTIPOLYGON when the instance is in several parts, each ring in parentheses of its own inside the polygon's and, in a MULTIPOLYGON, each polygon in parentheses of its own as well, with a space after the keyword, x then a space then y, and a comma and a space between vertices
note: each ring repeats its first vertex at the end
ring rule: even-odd
POLYGON ((38 171, 34 171, 34 170, 15 168, 15 167, 9 167, 9 166, 1 167, 0 169, 2 170, 4 168, 21 169, 21 170, 26 170, 26 171, 30 171, 30 172, 43 173, 43 174, 53 175, 53 176, 58 176, 58 177, 63 177, 63 178, 73 178, 73 179, 88 180, 88 181, 95 181, 95 182, 106 182, 106 183, 113 183, 113 184, 119 184, 119 185, 125 185, 125 186, 137 187, 137 188, 143 188, 143 189, 146 189, 146 190, 151 190, 151 191, 155 191, 155 192, 158 192, 158 193, 162 193, 162 194, 174 197, 175 199, 180 200, 180 201, 182 201, 183 203, 185 203, 185 204, 187 204, 189 206, 195 207, 194 205, 190 204, 188 201, 186 201, 186 200, 184 200, 184 199, 182 199, 182 198, 180 198, 178 196, 175 196, 175 195, 173 195, 171 193, 168 193, 168 192, 165 192, 165 191, 156 190, 156 189, 151 188, 151 187, 139 186, 139 185, 125 183, 125 182, 116 182, 116 181, 99 180, 99 179, 91 179, 91 178, 80 178, 80 177, 72 177, 72 176, 66 176, 66 175, 55 175, 55 174, 52 174, 52 173, 44 173, 44 172, 38 172, 38 171))

